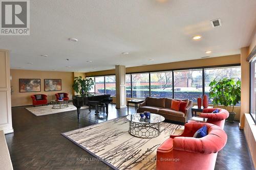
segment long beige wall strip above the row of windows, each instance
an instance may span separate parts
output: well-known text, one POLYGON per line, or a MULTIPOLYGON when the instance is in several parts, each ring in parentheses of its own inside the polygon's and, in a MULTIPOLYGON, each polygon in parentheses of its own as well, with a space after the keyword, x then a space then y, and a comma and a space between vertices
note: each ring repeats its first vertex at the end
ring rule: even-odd
MULTIPOLYGON (((188 60, 188 61, 179 61, 179 62, 172 62, 172 63, 126 67, 126 74, 133 73, 133 72, 143 72, 143 71, 157 71, 157 70, 179 69, 179 68, 189 68, 189 67, 238 64, 240 62, 241 62, 240 54, 238 54, 238 55, 214 57, 214 58, 206 58, 206 59, 198 59, 198 60, 188 60)), ((103 70, 103 71, 95 71, 95 72, 86 72, 87 77, 102 76, 102 75, 115 75, 115 70, 111 69, 111 70, 103 70)))

